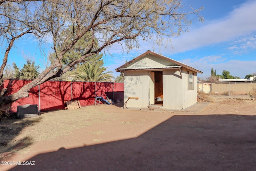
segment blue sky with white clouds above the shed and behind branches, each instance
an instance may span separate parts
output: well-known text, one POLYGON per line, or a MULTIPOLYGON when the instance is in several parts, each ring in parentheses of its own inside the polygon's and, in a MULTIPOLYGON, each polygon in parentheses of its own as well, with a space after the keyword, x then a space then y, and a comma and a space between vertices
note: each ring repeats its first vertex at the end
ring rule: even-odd
MULTIPOLYGON (((204 23, 194 16, 189 32, 172 37, 172 44, 168 43, 166 48, 156 46, 154 49, 151 42, 145 41, 141 42, 139 49, 126 53, 120 45, 114 44, 109 49, 112 56, 103 57, 108 71, 112 71, 114 76, 119 75, 115 69, 126 60, 151 50, 203 71, 203 74, 198 74, 201 78, 209 77, 211 68, 220 75, 223 70, 228 70, 241 79, 256 73, 256 0, 183 0, 183 3, 193 8, 203 6, 200 15, 204 17, 204 23)), ((40 64, 42 69, 46 66, 50 45, 42 51, 30 37, 20 39, 15 45, 8 65, 15 62, 22 68, 29 58, 40 64)), ((4 51, 0 51, 2 57, 4 51)))

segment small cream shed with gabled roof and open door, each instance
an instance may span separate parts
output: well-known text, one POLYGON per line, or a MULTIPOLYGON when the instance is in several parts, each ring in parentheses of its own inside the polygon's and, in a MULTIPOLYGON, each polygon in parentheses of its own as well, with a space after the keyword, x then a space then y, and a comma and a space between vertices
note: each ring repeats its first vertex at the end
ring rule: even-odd
POLYGON ((186 110, 197 103, 197 73, 193 67, 146 51, 117 72, 124 76, 124 108, 186 110))

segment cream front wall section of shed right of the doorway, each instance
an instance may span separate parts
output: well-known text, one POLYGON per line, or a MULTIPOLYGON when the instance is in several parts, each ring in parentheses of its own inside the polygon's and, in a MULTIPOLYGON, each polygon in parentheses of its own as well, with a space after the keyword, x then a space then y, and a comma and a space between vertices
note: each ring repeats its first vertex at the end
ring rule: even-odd
POLYGON ((182 110, 182 79, 178 70, 163 71, 163 108, 182 110))

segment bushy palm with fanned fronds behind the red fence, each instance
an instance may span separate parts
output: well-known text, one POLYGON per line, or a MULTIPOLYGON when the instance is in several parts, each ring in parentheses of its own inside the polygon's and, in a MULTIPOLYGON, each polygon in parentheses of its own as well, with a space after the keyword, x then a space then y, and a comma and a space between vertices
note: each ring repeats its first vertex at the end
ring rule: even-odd
POLYGON ((76 81, 92 81, 101 82, 113 78, 110 74, 112 71, 107 71, 108 68, 102 66, 102 63, 85 63, 80 65, 71 77, 76 81), (107 71, 107 72, 106 72, 107 71))

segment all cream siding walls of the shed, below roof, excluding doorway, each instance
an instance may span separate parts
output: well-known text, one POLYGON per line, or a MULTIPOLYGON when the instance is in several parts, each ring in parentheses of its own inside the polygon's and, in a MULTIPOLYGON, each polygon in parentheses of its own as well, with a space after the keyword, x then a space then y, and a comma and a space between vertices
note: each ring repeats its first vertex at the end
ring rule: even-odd
MULTIPOLYGON (((138 100, 128 100, 127 108, 148 107, 148 71, 125 71, 124 73, 124 102, 128 97, 138 97, 138 100)), ((163 108, 183 110, 197 102, 196 73, 193 76, 194 89, 188 90, 187 69, 163 71, 163 108)))

